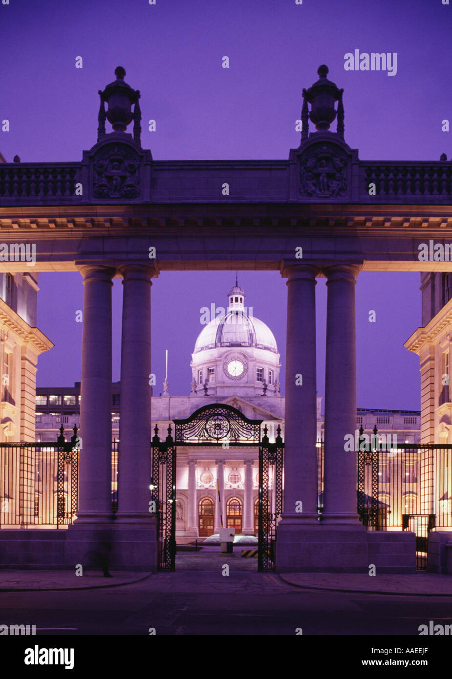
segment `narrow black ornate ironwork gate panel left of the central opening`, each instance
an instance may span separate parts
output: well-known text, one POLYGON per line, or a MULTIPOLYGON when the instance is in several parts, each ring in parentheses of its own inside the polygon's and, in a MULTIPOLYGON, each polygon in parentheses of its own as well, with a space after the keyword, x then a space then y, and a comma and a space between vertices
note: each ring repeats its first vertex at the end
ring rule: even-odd
POLYGON ((152 438, 151 497, 156 503, 158 568, 175 570, 176 556, 176 448, 171 436, 160 441, 157 425, 152 438))

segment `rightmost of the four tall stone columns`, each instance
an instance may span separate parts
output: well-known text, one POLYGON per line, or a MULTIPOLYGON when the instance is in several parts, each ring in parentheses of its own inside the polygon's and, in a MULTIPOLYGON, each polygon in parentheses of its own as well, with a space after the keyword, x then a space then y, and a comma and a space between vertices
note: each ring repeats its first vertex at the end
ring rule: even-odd
POLYGON ((358 265, 335 265, 324 270, 328 302, 322 524, 360 525, 356 452, 345 451, 345 436, 353 435, 355 441, 356 430, 355 278, 359 270, 358 265))

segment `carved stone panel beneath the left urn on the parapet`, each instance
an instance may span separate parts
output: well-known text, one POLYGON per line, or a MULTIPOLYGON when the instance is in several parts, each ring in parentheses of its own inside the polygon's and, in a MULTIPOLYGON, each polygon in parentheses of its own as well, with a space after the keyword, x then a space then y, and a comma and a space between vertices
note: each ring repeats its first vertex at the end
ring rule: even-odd
POLYGON ((137 198, 139 159, 131 151, 115 147, 94 160, 94 196, 137 198))

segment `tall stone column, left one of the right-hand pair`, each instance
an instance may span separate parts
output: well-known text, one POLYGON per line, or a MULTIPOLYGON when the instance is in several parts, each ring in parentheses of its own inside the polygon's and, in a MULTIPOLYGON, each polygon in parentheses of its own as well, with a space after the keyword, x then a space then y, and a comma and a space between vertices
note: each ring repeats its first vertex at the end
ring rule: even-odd
POLYGON ((317 525, 315 277, 311 264, 283 268, 288 278, 285 359, 284 502, 279 526, 317 525), (302 502, 302 505, 297 504, 302 502), (302 512, 296 509, 302 507, 302 512))

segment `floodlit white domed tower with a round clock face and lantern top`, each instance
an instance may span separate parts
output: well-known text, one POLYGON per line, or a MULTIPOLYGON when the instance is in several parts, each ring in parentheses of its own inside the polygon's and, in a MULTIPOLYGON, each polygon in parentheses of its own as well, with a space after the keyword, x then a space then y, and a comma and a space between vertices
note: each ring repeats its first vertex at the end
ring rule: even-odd
POLYGON ((228 308, 216 309, 218 315, 198 335, 190 363, 196 396, 279 395, 275 337, 244 301, 245 291, 236 280, 228 292, 228 308))

